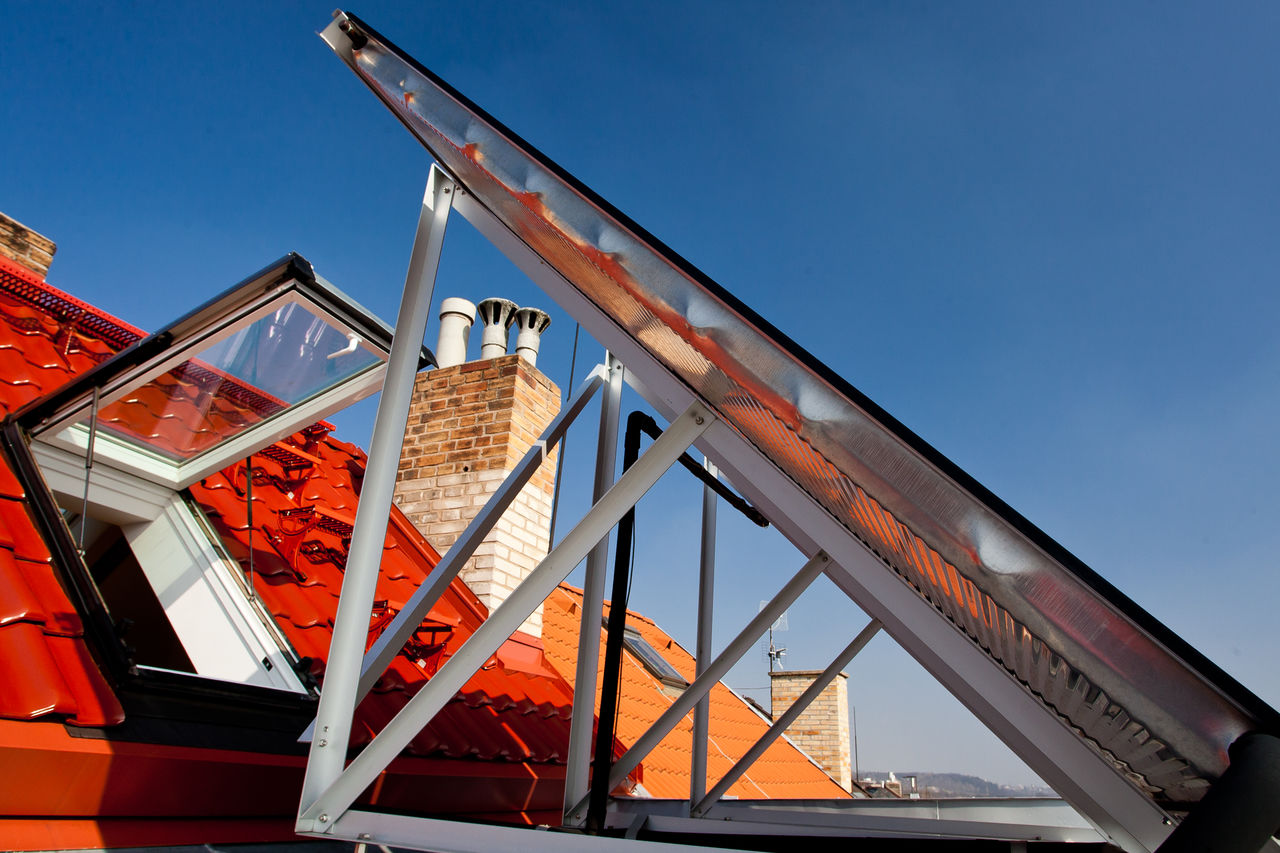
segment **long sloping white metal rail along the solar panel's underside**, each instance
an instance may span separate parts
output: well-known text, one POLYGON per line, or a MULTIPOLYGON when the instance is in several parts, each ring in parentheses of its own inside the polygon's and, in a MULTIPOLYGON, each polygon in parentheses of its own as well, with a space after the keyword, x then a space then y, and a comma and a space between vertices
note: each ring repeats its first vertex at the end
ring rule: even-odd
MULTIPOLYGON (((351 47, 343 47, 348 24, 351 20, 337 13, 323 37, 355 68, 351 47)), ((366 38, 360 26, 356 24, 353 37, 366 38)), ((410 93, 406 90, 406 102, 410 93)), ((388 105, 392 106, 390 101, 388 105)), ((466 105, 462 109, 467 109, 466 105)), ((402 120, 406 119, 402 117, 402 120)), ((489 142, 492 137, 484 141, 489 142)), ((627 365, 628 384, 659 414, 680 423, 701 405, 704 416, 712 418, 707 401, 700 400, 687 382, 644 343, 621 328, 617 318, 584 296, 462 184, 458 188, 456 209, 627 365)), ((1052 708, 1037 702, 1024 684, 984 653, 961 626, 940 619, 938 608, 895 574, 892 564, 878 556, 774 460, 762 455, 742 433, 723 420, 712 423, 696 446, 801 553, 809 557, 829 556, 824 571, 837 587, 1062 794, 1102 838, 1130 850, 1152 850, 1160 845, 1172 824, 1170 815, 1110 763, 1098 747, 1082 738, 1052 708), (886 571, 886 565, 890 571, 886 571)), ((532 599, 534 594, 531 592, 529 598, 532 599)), ((616 767, 616 772, 625 775, 622 765, 616 767)), ((575 772, 572 766, 570 772, 575 772)), ((567 792, 566 803, 570 802, 567 792)), ((709 806, 705 813, 710 815, 722 806, 709 806)), ((315 816, 314 809, 308 813, 315 816)))

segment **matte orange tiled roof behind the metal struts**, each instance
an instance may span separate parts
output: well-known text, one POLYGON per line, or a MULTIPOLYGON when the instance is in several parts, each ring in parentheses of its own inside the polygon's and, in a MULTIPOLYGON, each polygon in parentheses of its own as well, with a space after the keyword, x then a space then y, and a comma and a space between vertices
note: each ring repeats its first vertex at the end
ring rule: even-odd
MULTIPOLYGON (((543 608, 543 642, 547 657, 570 681, 577 661, 577 631, 582 590, 561 584, 543 608)), ((652 620, 627 611, 627 626, 640 635, 689 681, 694 680, 694 657, 652 620)), ((600 671, 604 648, 600 648, 600 671)), ((618 701, 617 736, 631 745, 673 702, 673 689, 664 686, 630 653, 622 654, 622 695, 618 701)), ((596 703, 599 688, 596 688, 596 703)), ((707 767, 709 784, 723 776, 746 754, 768 724, 723 684, 710 693, 710 742, 707 767)), ((692 715, 644 760, 644 788, 659 798, 689 797, 692 715)), ((730 789, 728 795, 746 799, 841 798, 849 794, 787 740, 776 740, 751 768, 730 789)))

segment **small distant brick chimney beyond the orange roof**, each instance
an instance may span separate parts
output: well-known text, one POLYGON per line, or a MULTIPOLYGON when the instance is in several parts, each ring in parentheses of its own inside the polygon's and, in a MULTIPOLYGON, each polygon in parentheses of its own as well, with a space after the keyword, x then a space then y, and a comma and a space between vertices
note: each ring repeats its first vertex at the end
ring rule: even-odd
MULTIPOLYGON (((777 720, 822 675, 820 670, 769 672, 769 698, 777 720)), ((787 729, 787 738, 822 765, 845 790, 852 790, 849 761, 849 676, 844 672, 787 729)))

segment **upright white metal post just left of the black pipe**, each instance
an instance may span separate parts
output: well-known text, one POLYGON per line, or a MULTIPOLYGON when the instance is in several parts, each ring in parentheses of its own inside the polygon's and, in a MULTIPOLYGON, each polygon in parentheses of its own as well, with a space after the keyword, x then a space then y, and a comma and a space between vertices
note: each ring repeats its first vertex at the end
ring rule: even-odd
MULTIPOLYGON (((595 487, 591 502, 598 502, 613 485, 618 462, 618 419, 622 407, 622 362, 612 353, 604 359, 608 387, 600 398, 600 434, 595 448, 595 487)), ((573 713, 568 733, 568 761, 564 767, 564 822, 580 825, 586 815, 570 807, 586 797, 591 768, 591 722, 595 719, 595 684, 600 665, 600 617, 604 608, 604 574, 609 562, 609 537, 602 538, 586 557, 582 579, 582 612, 577 629, 577 663, 573 675, 573 713)))

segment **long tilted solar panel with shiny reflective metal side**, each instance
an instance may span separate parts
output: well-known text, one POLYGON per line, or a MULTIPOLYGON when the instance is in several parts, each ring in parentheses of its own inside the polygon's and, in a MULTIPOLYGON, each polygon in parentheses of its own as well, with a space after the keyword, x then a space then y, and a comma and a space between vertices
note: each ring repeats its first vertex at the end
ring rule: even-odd
POLYGON ((1271 708, 687 261, 362 22, 338 18, 353 50, 330 42, 445 170, 1153 797, 1198 799, 1233 740, 1260 717, 1275 725, 1271 708))

